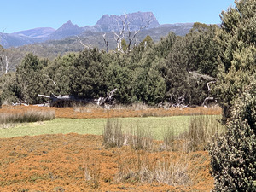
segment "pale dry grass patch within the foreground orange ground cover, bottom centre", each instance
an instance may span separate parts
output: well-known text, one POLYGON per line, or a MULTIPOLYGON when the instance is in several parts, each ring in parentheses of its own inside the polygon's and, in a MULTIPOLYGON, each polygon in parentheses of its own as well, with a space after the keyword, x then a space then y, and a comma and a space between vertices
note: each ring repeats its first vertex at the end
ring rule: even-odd
MULTIPOLYGON (((133 155, 131 155, 133 156, 133 155)), ((120 162, 115 181, 122 183, 165 183, 187 186, 192 183, 188 174, 188 160, 172 160, 172 157, 150 159, 149 154, 138 152, 137 158, 120 162)))

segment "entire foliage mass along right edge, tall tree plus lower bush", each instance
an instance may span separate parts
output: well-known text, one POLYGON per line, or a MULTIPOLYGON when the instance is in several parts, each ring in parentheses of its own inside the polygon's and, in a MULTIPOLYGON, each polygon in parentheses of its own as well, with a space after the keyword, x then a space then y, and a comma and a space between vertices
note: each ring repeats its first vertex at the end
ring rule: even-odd
POLYGON ((212 143, 214 191, 256 191, 256 1, 222 13, 215 87, 228 130, 212 143))

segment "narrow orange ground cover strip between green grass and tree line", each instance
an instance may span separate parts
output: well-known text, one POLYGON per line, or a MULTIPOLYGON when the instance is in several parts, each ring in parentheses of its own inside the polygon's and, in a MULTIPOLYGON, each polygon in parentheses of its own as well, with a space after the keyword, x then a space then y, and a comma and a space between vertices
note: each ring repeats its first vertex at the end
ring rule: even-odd
POLYGON ((56 118, 116 118, 146 116, 176 116, 192 114, 221 114, 221 108, 147 108, 147 109, 103 109, 103 108, 47 108, 36 106, 3 106, 0 113, 22 113, 27 110, 54 110, 56 118))

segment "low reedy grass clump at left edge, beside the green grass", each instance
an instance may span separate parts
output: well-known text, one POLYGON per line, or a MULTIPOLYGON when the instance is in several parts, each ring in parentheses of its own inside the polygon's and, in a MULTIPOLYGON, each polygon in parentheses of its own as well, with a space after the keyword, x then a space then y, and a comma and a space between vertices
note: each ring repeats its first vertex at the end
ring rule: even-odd
POLYGON ((52 120, 55 111, 25 111, 23 113, 0 113, 0 124, 37 122, 52 120))

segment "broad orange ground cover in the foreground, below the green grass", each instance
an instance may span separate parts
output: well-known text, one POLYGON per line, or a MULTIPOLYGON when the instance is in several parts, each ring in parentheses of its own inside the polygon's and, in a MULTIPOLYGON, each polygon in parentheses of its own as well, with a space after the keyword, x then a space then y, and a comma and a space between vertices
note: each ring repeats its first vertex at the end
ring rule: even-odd
POLYGON ((74 133, 1 138, 0 150, 0 191, 210 191, 213 186, 206 151, 183 154, 192 183, 170 186, 120 183, 115 177, 122 162, 129 166, 138 154, 149 160, 167 156, 178 162, 179 152, 105 149, 101 136, 74 133))

